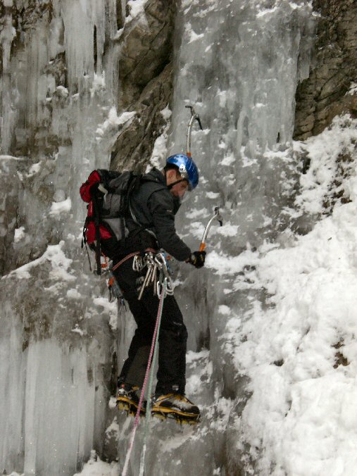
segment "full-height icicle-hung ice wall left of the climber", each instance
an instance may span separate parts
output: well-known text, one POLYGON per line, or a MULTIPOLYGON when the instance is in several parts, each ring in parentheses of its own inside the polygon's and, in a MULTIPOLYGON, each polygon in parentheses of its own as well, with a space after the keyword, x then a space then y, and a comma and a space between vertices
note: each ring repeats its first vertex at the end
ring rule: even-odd
POLYGON ((103 449, 115 352, 78 189, 131 118, 115 108, 116 2, 0 8, 0 472, 73 475, 103 449))

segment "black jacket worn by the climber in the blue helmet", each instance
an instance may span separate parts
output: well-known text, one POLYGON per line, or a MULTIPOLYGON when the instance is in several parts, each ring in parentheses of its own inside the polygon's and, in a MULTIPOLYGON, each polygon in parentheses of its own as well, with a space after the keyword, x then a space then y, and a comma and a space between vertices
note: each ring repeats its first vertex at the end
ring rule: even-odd
POLYGON ((175 213, 180 208, 180 201, 170 193, 165 176, 154 168, 142 178, 137 192, 132 194, 130 206, 135 220, 142 226, 139 230, 137 223, 127 219, 130 231, 127 238, 127 251, 138 251, 146 246, 163 248, 178 261, 185 261, 191 255, 191 250, 178 237, 175 230, 175 213), (138 243, 138 238, 140 243, 138 243))

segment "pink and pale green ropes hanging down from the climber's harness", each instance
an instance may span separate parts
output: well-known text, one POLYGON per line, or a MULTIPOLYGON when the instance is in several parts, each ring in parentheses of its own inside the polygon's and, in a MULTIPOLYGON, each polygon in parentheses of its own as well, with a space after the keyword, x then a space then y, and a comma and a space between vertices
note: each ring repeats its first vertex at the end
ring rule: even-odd
POLYGON ((140 394, 140 399, 139 399, 139 405, 137 407, 137 414, 135 415, 135 420, 134 420, 134 427, 132 429, 132 434, 130 438, 130 443, 127 449, 127 455, 125 457, 125 463, 124 463, 124 468, 122 472, 122 476, 126 476, 127 474, 127 468, 129 466, 129 461, 130 461, 130 455, 132 453, 132 448, 134 446, 134 439, 135 439, 135 433, 137 432, 137 426, 139 424, 139 416, 140 416, 140 411, 142 409, 142 401, 144 399, 144 393, 145 393, 145 388, 146 388, 146 383, 149 377, 149 371, 151 367, 151 375, 150 375, 150 381, 149 381, 149 389, 148 389, 148 398, 146 401, 146 420, 145 420, 145 431, 144 431, 144 446, 142 450, 142 457, 140 458, 140 476, 144 474, 144 461, 145 461, 145 452, 146 452, 146 434, 147 430, 149 428, 149 421, 151 417, 151 406, 150 406, 150 396, 151 396, 151 387, 152 387, 152 382, 154 378, 154 367, 156 363, 156 349, 157 349, 157 342, 158 342, 158 333, 160 330, 160 324, 161 324, 161 315, 163 314, 163 300, 165 299, 165 280, 163 282, 163 291, 160 296, 160 301, 158 303, 158 315, 156 318, 156 324, 155 324, 155 329, 154 329, 154 335, 153 339, 151 342, 151 349, 150 349, 150 354, 149 354, 149 361, 146 367, 146 372, 145 372, 145 378, 144 378, 144 383, 142 384, 142 393, 140 394), (154 358, 153 358, 154 354, 154 358), (151 360, 152 365, 151 365, 151 360))

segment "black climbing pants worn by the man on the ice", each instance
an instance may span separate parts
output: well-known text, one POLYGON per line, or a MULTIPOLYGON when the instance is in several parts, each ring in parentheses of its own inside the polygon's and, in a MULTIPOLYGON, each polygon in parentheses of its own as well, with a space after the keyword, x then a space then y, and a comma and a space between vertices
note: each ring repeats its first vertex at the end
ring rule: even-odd
MULTIPOLYGON (((139 385, 139 387, 144 381, 159 303, 158 297, 154 296, 152 286, 144 291, 140 301, 137 299, 140 287, 138 278, 145 275, 146 269, 144 268, 142 274, 134 271, 131 258, 115 270, 115 277, 137 323, 127 360, 120 372, 119 382, 139 385)), ((166 296, 163 301, 158 342, 158 383, 155 393, 184 394, 187 329, 174 296, 166 296)))

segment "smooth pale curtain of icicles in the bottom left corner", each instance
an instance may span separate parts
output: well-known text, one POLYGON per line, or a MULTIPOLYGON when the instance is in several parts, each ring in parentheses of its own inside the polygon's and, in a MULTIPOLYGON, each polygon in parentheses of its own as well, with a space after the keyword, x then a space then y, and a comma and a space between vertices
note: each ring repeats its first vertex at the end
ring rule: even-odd
POLYGON ((11 369, 1 366, 2 464, 26 475, 73 474, 94 446, 95 419, 104 416, 96 414, 104 408, 94 378, 87 379, 87 352, 64 349, 56 339, 23 351, 15 331, 0 344, 1 361, 11 361, 11 369))

